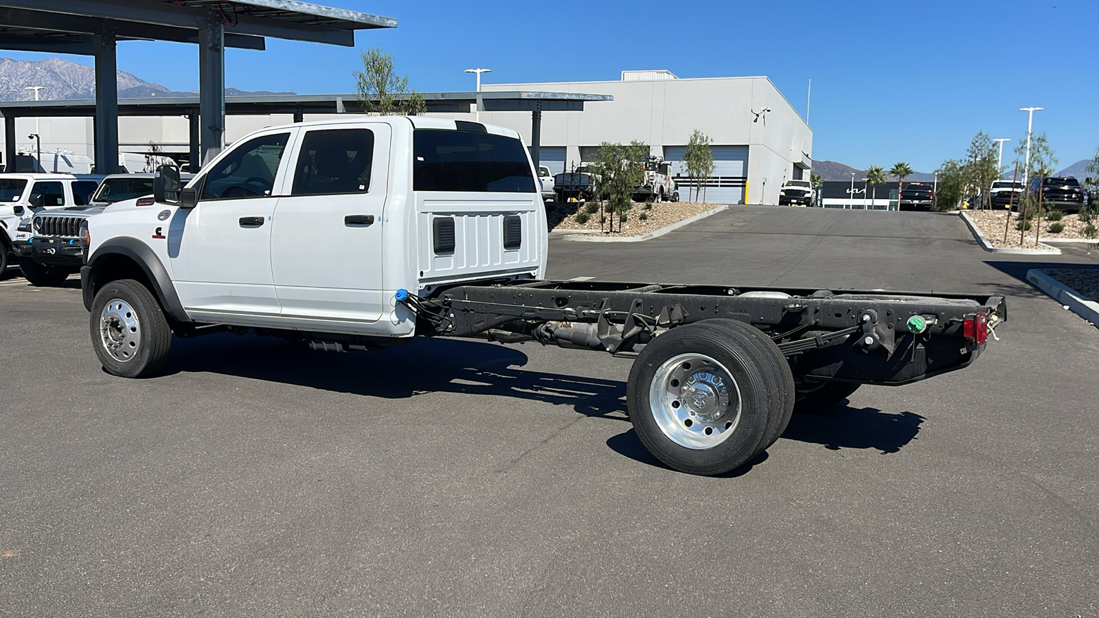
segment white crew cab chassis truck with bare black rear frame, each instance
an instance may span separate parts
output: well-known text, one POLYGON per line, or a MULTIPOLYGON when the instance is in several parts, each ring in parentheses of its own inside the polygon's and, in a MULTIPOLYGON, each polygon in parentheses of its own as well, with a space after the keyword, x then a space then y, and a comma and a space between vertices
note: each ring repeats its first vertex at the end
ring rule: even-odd
POLYGON ((111 374, 155 375, 173 335, 226 330, 323 351, 417 335, 601 351, 633 357, 641 441, 692 474, 743 466, 795 409, 968 366, 1006 317, 987 295, 546 280, 520 135, 456 120, 264 129, 186 187, 163 167, 153 198, 86 221, 84 301, 111 374))

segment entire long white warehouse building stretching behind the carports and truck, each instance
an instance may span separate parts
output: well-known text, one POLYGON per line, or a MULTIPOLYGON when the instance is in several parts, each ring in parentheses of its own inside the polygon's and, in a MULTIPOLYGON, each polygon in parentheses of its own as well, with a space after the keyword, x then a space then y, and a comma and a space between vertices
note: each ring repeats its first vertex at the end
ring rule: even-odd
MULTIPOLYGON (((554 173, 590 159, 591 148, 603 142, 639 140, 650 145, 653 155, 673 164, 673 175, 686 176, 684 150, 696 130, 707 134, 712 144, 714 173, 706 186, 710 202, 777 203, 782 183, 808 178, 812 166, 812 132, 766 77, 679 79, 667 70, 626 70, 617 81, 485 84, 481 89, 613 96, 612 101, 589 103, 580 112, 542 112, 541 162, 554 173)), ((292 101, 295 97, 286 98, 292 101)), ((343 97, 354 100, 351 95, 343 97)), ((474 111, 431 115, 473 120, 474 111)), ((304 114, 304 120, 322 118, 338 117, 304 114)), ((481 111, 479 118, 481 122, 514 129, 531 143, 530 112, 481 111)), ((263 126, 292 120, 292 114, 278 113, 227 115, 225 142, 231 144, 263 126)), ((188 126, 185 117, 122 115, 120 150, 145 153, 149 143, 155 143, 165 154, 185 154, 188 126)), ((93 156, 90 118, 54 117, 37 122, 33 118, 16 119, 16 135, 21 137, 16 145, 23 152, 34 152, 37 146, 22 140, 29 132, 42 136, 44 155, 62 151, 93 156)), ((681 198, 687 199, 691 181, 684 177, 679 181, 681 198)))

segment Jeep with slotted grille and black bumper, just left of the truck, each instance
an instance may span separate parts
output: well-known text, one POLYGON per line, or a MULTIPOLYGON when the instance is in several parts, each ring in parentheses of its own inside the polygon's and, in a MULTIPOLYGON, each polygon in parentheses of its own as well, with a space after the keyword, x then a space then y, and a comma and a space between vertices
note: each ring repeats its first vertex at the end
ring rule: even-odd
POLYGON ((78 273, 84 264, 82 222, 112 203, 152 196, 155 176, 111 174, 88 199, 88 206, 43 209, 24 218, 13 236, 12 252, 26 280, 34 286, 56 286, 78 273))

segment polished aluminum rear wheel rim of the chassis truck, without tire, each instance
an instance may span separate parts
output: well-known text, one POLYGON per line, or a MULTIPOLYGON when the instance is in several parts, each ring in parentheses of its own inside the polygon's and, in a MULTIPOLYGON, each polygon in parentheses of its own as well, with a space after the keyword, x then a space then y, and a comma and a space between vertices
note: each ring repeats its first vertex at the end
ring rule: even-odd
POLYGON ((687 449, 721 444, 741 420, 736 380, 704 354, 680 354, 665 361, 653 376, 648 401, 660 431, 687 449))

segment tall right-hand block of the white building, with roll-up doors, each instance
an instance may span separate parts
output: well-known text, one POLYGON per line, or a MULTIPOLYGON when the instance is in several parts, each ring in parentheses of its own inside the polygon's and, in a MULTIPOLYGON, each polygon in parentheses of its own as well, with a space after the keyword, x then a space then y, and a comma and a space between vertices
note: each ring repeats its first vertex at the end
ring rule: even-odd
MULTIPOLYGON (((707 201, 778 203, 782 183, 808 179, 812 167, 812 131, 766 77, 679 79, 667 70, 625 70, 619 81, 490 84, 481 89, 614 97, 586 106, 582 113, 543 112, 541 159, 554 173, 587 161, 589 148, 602 142, 639 140, 671 163, 673 174, 686 175, 684 147, 696 130, 712 144, 714 174, 707 201)), ((530 143, 525 114, 481 112, 480 118, 520 131, 530 143)), ((687 191, 680 192, 687 199, 687 191)))

